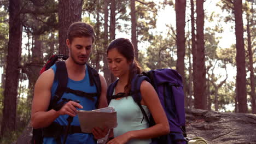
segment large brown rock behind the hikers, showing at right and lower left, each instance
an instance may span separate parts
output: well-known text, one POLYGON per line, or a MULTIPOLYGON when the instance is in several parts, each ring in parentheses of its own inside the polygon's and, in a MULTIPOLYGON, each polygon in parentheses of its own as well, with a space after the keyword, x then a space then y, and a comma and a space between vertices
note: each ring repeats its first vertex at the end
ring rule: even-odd
MULTIPOLYGON (((185 109, 188 137, 201 136, 209 144, 256 144, 256 115, 185 109)), ((31 143, 30 124, 17 144, 31 143)))

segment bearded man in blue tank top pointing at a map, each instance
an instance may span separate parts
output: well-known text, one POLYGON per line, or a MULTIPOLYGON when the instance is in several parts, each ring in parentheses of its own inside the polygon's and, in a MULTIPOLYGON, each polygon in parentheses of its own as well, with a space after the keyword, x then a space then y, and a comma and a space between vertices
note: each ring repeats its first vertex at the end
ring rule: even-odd
MULTIPOLYGON (((88 66, 86 62, 92 50, 92 43, 94 42, 94 29, 91 25, 84 22, 75 22, 69 27, 67 32, 66 44, 69 48, 69 58, 65 61, 68 83, 67 87, 86 93, 96 93, 96 86, 90 85, 88 66)), ((32 101, 31 122, 34 129, 44 128, 43 143, 61 143, 65 139, 66 126, 68 125, 67 118, 73 117, 71 128, 74 133, 67 136, 66 143, 95 143, 92 134, 83 134, 75 130, 79 126, 77 109, 94 110, 102 107, 107 107, 106 80, 100 75, 101 94, 94 99, 81 97, 73 93, 64 92, 62 99, 58 101, 63 102, 63 98, 68 99, 59 106, 48 110, 51 101, 53 100, 58 81, 55 79, 56 64, 49 70, 44 71, 36 82, 34 87, 34 97, 32 101), (75 102, 79 100, 80 103, 75 102), (97 105, 97 107, 96 107, 97 105), (53 126, 54 125, 54 126, 53 126), (56 134, 59 134, 56 136, 56 134)), ((53 106, 54 107, 54 106, 53 106)))

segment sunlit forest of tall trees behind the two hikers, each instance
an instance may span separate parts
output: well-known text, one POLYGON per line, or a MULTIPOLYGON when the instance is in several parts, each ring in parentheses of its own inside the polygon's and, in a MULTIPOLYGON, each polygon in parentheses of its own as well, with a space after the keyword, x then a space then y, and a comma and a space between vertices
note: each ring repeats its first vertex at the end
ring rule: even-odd
POLYGON ((143 70, 172 68, 183 77, 185 106, 256 113, 253 0, 0 0, 0 143, 30 122, 33 87, 51 55, 68 55, 68 26, 95 28, 89 63, 113 77, 106 47, 129 38, 143 70))

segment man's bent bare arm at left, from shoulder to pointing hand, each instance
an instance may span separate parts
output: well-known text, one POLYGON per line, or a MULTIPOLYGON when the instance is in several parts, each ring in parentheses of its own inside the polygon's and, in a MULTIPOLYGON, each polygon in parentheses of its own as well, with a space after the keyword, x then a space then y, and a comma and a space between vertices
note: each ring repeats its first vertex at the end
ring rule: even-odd
POLYGON ((75 116, 75 106, 82 109, 82 105, 69 101, 59 111, 48 110, 51 99, 51 87, 54 81, 53 69, 46 70, 41 74, 34 86, 34 97, 32 101, 31 123, 32 127, 43 128, 49 126, 60 115, 75 116))

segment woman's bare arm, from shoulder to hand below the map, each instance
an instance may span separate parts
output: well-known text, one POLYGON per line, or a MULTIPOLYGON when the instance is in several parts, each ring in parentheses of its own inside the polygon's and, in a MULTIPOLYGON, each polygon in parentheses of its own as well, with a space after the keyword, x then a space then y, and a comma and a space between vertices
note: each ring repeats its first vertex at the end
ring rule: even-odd
POLYGON ((154 87, 149 82, 142 82, 141 95, 141 104, 148 107, 154 118, 155 125, 147 129, 128 131, 121 136, 115 137, 115 139, 110 140, 108 143, 126 143, 131 139, 151 139, 160 135, 166 135, 170 132, 165 111, 162 108, 154 87))

